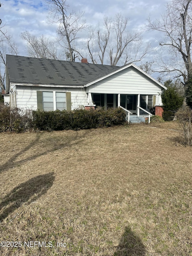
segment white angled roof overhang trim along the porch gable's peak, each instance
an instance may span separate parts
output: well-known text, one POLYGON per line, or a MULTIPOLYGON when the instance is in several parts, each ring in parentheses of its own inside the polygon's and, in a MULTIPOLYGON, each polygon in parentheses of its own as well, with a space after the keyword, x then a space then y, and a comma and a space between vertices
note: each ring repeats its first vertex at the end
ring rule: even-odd
POLYGON ((124 70, 124 69, 126 69, 126 68, 129 68, 129 67, 134 67, 135 69, 137 69, 138 71, 140 71, 141 73, 143 73, 146 77, 149 77, 149 79, 151 79, 153 82, 155 82, 155 83, 157 83, 159 86, 161 86, 163 89, 165 89, 165 90, 167 90, 167 87, 166 86, 164 86, 164 85, 162 85, 161 83, 159 83, 157 80, 155 80, 155 78, 153 78, 153 77, 151 77, 149 74, 147 74, 145 71, 143 71, 141 68, 139 68, 139 67, 137 67, 134 63, 130 63, 130 64, 128 64, 128 65, 125 65, 125 66, 123 66, 122 68, 119 68, 118 70, 116 70, 116 71, 113 71, 112 73, 110 73, 110 74, 108 74, 108 75, 106 75, 106 76, 104 76, 104 77, 101 77, 101 78, 99 78, 99 79, 97 79, 97 80, 94 80, 94 81, 92 81, 92 82, 90 82, 90 83, 87 83, 87 84, 85 84, 84 85, 84 87, 87 87, 87 86, 90 86, 90 85, 92 85, 92 84, 94 84, 94 83, 97 83, 97 82, 99 82, 99 81, 101 81, 101 80, 103 80, 103 79, 105 79, 105 78, 107 78, 107 77, 110 77, 110 76, 112 76, 112 75, 114 75, 114 74, 116 74, 116 73, 118 73, 118 72, 120 72, 120 71, 122 71, 122 70, 124 70))

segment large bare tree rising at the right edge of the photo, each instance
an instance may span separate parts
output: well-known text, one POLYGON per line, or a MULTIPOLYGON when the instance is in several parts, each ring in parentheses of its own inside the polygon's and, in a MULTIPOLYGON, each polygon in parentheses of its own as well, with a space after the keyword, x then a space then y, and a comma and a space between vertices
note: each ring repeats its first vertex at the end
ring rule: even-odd
POLYGON ((191 0, 172 0, 167 4, 167 11, 161 20, 148 18, 147 29, 157 30, 164 34, 158 40, 160 47, 166 47, 170 57, 158 55, 160 72, 175 72, 175 78, 183 77, 183 84, 192 78, 191 33, 192 33, 191 0))

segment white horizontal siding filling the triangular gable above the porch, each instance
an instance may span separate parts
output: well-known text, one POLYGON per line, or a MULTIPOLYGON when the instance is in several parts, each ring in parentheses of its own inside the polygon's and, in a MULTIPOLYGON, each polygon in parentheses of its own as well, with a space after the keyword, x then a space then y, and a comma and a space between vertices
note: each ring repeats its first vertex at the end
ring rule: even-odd
POLYGON ((161 92, 161 86, 134 67, 129 67, 88 86, 86 91, 93 93, 158 95, 161 92))

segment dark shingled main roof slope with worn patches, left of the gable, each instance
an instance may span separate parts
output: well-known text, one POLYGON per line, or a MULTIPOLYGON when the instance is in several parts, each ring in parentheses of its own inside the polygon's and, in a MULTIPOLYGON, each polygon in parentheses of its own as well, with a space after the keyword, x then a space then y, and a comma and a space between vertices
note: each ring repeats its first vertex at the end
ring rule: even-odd
POLYGON ((82 86, 121 67, 6 55, 11 83, 82 86))

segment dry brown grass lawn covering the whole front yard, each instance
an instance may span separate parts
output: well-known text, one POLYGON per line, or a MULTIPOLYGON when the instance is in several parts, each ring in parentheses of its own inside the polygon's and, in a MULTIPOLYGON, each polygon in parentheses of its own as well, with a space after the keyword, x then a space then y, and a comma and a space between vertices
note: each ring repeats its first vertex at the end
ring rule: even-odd
POLYGON ((192 255, 192 148, 178 130, 0 134, 0 241, 55 246, 0 255, 192 255))

